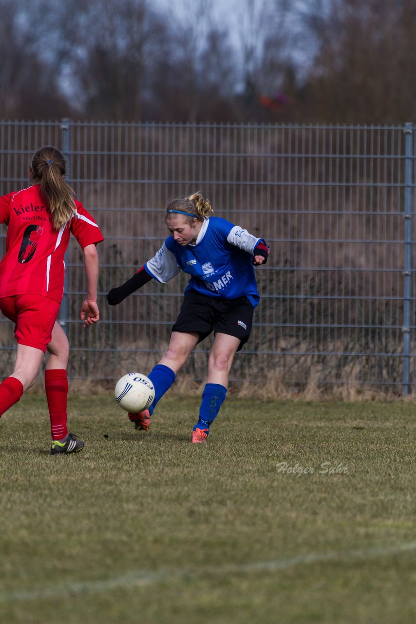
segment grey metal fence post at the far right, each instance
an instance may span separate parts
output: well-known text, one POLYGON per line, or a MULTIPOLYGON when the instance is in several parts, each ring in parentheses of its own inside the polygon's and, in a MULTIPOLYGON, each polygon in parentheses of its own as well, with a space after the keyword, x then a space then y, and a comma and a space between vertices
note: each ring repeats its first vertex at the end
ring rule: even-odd
POLYGON ((413 124, 405 124, 404 172, 404 270, 403 270, 403 396, 409 394, 410 324, 412 294, 412 186, 413 186, 413 124))

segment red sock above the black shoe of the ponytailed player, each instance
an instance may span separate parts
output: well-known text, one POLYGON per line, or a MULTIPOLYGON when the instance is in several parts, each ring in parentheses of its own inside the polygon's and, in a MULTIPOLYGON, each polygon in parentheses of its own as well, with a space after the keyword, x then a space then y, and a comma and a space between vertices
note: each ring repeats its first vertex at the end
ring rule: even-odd
POLYGON ((64 368, 45 371, 45 390, 49 418, 51 419, 52 440, 62 440, 68 433, 67 371, 64 368))

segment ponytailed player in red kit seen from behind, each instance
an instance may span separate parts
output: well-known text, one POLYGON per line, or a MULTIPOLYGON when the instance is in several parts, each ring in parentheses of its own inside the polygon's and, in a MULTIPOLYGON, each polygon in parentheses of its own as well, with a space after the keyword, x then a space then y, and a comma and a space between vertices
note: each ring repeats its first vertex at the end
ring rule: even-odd
POLYGON ((0 310, 15 323, 14 371, 0 384, 0 416, 36 379, 46 350, 45 389, 51 419, 51 454, 84 447, 67 429, 69 343, 57 323, 64 294, 64 255, 72 233, 84 252, 87 296, 81 306, 84 327, 97 323, 99 259, 104 240, 97 223, 64 180, 65 158, 56 147, 32 157, 32 185, 0 197, 0 223, 7 225, 6 255, 0 262, 0 310))

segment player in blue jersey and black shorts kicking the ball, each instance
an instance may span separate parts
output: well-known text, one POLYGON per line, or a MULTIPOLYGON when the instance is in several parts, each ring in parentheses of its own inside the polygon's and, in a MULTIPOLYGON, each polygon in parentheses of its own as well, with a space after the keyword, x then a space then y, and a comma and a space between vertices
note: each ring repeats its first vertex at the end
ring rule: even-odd
POLYGON ((210 201, 200 193, 173 200, 165 215, 170 236, 130 280, 107 295, 109 304, 117 305, 152 279, 165 283, 181 270, 191 276, 168 348, 148 374, 155 386, 155 399, 148 409, 128 417, 136 429, 147 431, 157 402, 172 386, 181 366, 196 344, 214 331, 192 442, 206 441, 223 404, 231 364, 248 341, 259 302, 253 265, 266 263, 269 254, 263 238, 225 219, 210 217, 211 212, 210 201))

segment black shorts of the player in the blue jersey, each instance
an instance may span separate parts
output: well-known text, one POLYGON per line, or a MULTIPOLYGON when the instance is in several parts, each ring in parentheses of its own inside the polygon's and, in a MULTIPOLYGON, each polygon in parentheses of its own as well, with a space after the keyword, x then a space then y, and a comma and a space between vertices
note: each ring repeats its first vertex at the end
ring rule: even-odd
POLYGON ((172 331, 195 332, 200 335, 198 343, 209 336, 211 331, 219 331, 239 338, 239 351, 249 339, 253 312, 253 305, 245 296, 229 300, 215 299, 191 289, 185 295, 172 331))

